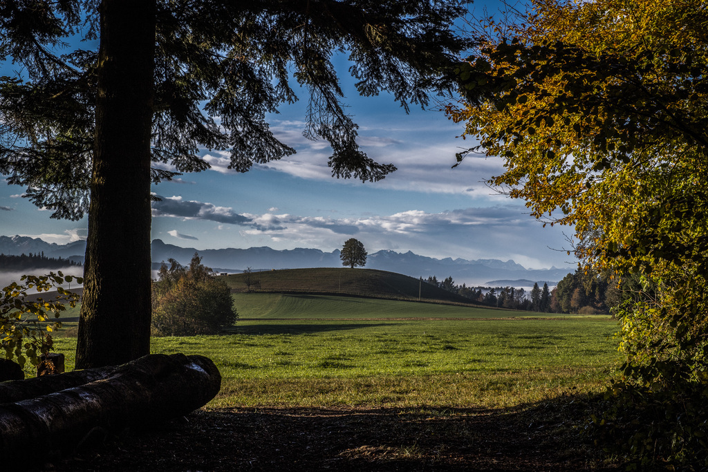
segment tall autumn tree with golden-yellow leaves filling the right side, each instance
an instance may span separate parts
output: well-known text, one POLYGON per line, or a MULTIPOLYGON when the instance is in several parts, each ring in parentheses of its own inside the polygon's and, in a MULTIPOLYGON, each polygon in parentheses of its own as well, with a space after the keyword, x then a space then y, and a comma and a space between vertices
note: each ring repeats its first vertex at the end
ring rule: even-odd
POLYGON ((518 20, 457 69, 447 113, 479 142, 458 161, 501 156, 490 183, 571 226, 581 266, 641 280, 610 398, 653 426, 625 458, 708 466, 708 4, 534 0, 518 20))

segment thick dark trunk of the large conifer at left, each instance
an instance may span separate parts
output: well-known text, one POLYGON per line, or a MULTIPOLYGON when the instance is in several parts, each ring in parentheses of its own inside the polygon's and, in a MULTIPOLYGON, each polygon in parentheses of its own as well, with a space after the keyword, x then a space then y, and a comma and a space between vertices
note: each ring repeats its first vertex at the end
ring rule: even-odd
POLYGON ((150 350, 150 137, 154 0, 101 1, 84 296, 76 368, 150 350))

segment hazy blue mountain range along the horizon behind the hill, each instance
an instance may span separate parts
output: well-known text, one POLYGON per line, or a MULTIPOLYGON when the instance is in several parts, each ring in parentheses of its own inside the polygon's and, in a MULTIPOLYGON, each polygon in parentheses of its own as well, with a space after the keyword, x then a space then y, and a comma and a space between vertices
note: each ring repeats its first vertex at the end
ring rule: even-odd
MULTIPOLYGON (((74 241, 68 244, 47 243, 39 238, 26 236, 0 236, 0 253, 19 255, 22 253, 44 253, 47 257, 61 257, 77 262, 83 262, 86 251, 86 241, 74 241)), ((159 239, 152 241, 152 260, 154 268, 169 258, 181 264, 189 263, 194 253, 199 253, 202 263, 212 267, 216 272, 241 272, 251 270, 295 269, 307 267, 341 267, 340 251, 331 253, 319 249, 295 248, 278 251, 269 247, 249 249, 205 249, 182 248, 167 244, 159 239)), ((526 269, 513 260, 506 262, 498 259, 435 259, 408 251, 377 251, 367 256, 366 267, 370 269, 398 272, 411 277, 427 279, 434 275, 438 280, 452 277, 456 284, 465 283, 471 286, 496 285, 490 281, 523 282, 517 285, 525 286, 527 282, 548 282, 556 284, 574 267, 551 269, 526 269)), ((1 267, 0 267, 1 270, 1 267)))

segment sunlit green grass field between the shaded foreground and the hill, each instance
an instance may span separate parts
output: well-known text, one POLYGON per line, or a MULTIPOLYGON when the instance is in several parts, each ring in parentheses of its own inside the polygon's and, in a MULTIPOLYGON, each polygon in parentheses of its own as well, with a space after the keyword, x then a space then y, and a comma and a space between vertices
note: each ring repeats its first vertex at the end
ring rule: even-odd
MULTIPOLYGON (((521 318, 530 313, 312 295, 234 299, 249 319, 230 333, 152 341, 153 352, 217 364, 222 391, 210 407, 520 405, 599 391, 617 358, 607 316, 521 318)), ((57 340, 67 369, 74 347, 74 338, 57 340)))

